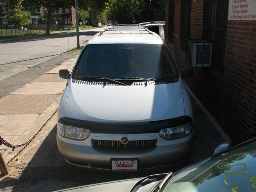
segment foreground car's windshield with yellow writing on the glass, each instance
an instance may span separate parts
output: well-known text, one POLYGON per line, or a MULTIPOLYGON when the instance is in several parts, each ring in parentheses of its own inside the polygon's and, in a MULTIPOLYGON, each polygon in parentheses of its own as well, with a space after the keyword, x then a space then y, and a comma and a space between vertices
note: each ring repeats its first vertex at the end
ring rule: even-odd
POLYGON ((244 192, 256 189, 256 140, 174 174, 162 192, 244 192))

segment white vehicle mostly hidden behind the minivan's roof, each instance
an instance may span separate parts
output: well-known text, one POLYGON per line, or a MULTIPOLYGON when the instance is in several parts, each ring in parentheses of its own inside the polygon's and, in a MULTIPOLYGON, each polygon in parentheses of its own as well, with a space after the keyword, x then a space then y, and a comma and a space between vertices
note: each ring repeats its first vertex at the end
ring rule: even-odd
POLYGON ((142 27, 148 28, 148 30, 155 32, 162 38, 162 40, 164 40, 164 28, 165 28, 164 21, 151 21, 151 22, 144 22, 139 24, 142 27))

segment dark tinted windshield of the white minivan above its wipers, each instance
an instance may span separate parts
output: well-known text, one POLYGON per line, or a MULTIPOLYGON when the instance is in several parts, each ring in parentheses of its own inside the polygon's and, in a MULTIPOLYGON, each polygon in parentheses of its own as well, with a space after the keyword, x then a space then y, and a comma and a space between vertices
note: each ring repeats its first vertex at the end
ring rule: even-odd
POLYGON ((166 45, 92 44, 83 50, 72 78, 87 76, 168 79, 178 70, 166 45))

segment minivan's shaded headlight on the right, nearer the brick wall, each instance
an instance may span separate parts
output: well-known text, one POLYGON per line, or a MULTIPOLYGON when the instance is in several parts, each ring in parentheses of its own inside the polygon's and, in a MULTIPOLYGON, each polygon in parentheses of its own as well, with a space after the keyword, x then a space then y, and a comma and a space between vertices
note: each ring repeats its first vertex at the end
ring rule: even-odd
POLYGON ((188 124, 161 129, 159 135, 165 140, 173 140, 188 136, 192 130, 193 124, 189 122, 188 124))

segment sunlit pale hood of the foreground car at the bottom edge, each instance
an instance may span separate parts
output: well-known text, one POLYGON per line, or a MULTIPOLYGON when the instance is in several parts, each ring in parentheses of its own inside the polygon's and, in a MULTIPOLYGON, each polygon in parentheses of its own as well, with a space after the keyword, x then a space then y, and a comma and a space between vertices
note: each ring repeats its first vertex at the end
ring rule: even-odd
POLYGON ((141 178, 112 181, 58 190, 56 192, 129 192, 141 178))

